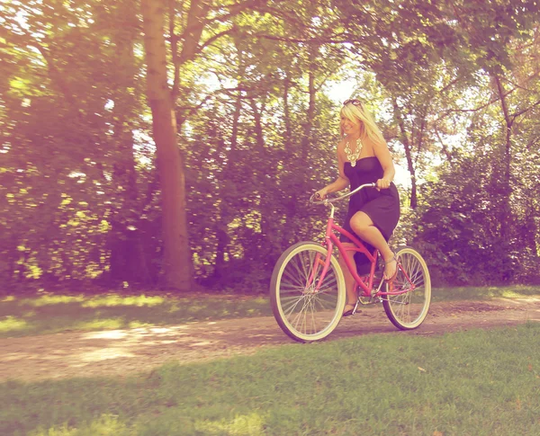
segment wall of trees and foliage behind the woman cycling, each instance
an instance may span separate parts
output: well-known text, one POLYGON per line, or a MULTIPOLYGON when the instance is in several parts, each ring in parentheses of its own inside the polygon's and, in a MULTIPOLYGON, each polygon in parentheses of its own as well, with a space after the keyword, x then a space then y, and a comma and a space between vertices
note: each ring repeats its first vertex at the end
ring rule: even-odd
MULTIPOLYGON (((326 211, 306 201, 336 175, 343 77, 410 172, 396 240, 435 283, 540 280, 534 3, 205 4, 193 52, 190 2, 166 26, 198 280, 258 292, 288 245, 320 240, 326 211)), ((0 28, 0 278, 157 286, 163 181, 133 2, 2 4, 0 28)))

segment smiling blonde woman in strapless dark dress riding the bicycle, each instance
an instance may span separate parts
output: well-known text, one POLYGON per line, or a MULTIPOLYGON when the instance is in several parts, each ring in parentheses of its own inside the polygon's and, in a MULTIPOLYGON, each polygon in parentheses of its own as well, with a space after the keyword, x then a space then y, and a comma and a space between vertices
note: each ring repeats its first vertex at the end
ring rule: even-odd
MULTIPOLYGON (((343 228, 365 241, 368 250, 374 247, 384 259, 384 280, 391 281, 397 274, 398 262, 388 246, 388 239, 400 219, 400 196, 392 182, 395 169, 390 150, 371 114, 359 100, 347 100, 341 108, 341 141, 338 144, 338 179, 317 191, 320 199, 330 192, 341 191, 350 184, 351 191, 365 183, 376 183, 376 188, 365 188, 349 200, 343 228)), ((347 246, 355 246, 347 236, 340 236, 347 246)), ((365 254, 347 251, 359 275, 369 273, 370 263, 365 254)), ((356 281, 344 259, 339 263, 345 275, 347 305, 343 316, 352 315, 358 299, 356 281)))

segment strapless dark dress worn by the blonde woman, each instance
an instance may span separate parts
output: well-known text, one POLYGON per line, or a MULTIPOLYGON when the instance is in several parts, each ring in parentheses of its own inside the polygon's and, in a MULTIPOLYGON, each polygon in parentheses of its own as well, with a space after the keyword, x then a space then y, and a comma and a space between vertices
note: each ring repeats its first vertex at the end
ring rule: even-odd
MULTIPOLYGON (((377 180, 383 178, 384 174, 383 166, 381 166, 376 156, 358 159, 355 166, 352 166, 350 162, 346 162, 344 172, 350 182, 351 191, 356 190, 361 184, 377 182, 377 180)), ((400 220, 400 194, 396 185, 392 182, 390 188, 381 191, 377 191, 376 188, 364 188, 351 196, 343 228, 353 235, 356 235, 356 233, 351 228, 350 220, 360 210, 372 219, 375 227, 381 230, 384 238, 388 241, 400 220)), ((358 239, 361 238, 358 236, 358 239)), ((341 235, 339 240, 350 242, 349 238, 344 235, 341 235)), ((370 252, 374 251, 372 245, 365 244, 365 247, 370 252)), ((365 254, 356 253, 355 261, 359 275, 369 273, 370 263, 365 254)))

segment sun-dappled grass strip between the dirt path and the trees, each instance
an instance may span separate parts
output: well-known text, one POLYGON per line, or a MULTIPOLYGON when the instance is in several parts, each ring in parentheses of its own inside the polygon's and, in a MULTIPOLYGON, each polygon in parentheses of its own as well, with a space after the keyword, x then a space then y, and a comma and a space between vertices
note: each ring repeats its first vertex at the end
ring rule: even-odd
MULTIPOLYGON (((540 296, 540 287, 433 289, 434 302, 532 296, 540 296)), ((85 296, 41 293, 23 298, 9 296, 0 300, 0 337, 177 325, 191 321, 271 315, 270 302, 266 296, 85 296)))

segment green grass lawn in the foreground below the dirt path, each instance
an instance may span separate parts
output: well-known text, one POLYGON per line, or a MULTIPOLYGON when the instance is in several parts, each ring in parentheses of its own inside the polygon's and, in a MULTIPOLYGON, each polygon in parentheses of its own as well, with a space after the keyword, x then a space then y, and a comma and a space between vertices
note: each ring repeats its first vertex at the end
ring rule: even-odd
POLYGON ((536 435, 540 325, 295 344, 138 378, 0 385, 0 434, 536 435))

